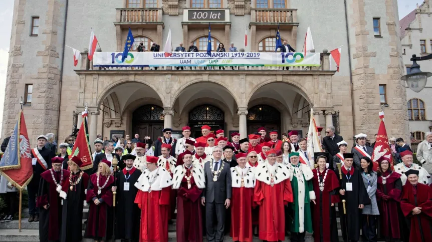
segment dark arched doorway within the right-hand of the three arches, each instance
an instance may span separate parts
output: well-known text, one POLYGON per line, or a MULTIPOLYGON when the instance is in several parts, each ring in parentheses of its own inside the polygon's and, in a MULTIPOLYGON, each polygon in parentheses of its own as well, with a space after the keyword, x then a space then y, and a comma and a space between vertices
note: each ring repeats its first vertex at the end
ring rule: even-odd
MULTIPOLYGON (((269 105, 257 105, 248 110, 247 116, 248 134, 257 132, 259 127, 265 127, 267 131, 277 130, 281 132, 281 113, 269 105)), ((279 135, 279 138, 282 135, 279 135)))

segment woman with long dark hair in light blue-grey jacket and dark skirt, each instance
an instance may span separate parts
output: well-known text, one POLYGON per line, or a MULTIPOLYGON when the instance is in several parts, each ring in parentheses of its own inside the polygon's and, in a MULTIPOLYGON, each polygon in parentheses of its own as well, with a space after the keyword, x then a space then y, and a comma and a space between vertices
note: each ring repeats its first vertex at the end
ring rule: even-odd
POLYGON ((378 177, 373 171, 373 163, 369 157, 362 157, 360 160, 361 177, 369 195, 370 204, 365 205, 362 210, 362 235, 363 241, 376 241, 376 217, 379 215, 378 204, 376 203, 376 187, 378 177))

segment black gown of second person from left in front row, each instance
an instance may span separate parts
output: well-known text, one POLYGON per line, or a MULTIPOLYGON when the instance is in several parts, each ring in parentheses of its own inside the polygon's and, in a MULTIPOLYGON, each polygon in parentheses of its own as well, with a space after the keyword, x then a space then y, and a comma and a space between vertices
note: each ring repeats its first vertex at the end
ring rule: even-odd
MULTIPOLYGON (((72 176, 72 182, 77 182, 80 179, 81 171, 72 176)), ((62 208, 62 242, 78 242, 81 241, 83 236, 83 208, 84 201, 86 200, 85 190, 87 189, 89 175, 83 172, 78 184, 70 189, 69 177, 65 177, 67 183, 67 197, 63 200, 62 208)))

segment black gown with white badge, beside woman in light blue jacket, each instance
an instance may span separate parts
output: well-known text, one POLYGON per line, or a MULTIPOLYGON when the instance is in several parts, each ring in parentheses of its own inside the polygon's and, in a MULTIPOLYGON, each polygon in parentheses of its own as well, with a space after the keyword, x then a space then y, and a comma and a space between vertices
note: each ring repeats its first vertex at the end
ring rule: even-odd
MULTIPOLYGON (((351 167, 353 169, 354 167, 351 167)), ((335 171, 337 177, 339 178, 339 171, 336 169, 335 171)), ((350 240, 358 241, 360 237, 360 218, 361 218, 361 209, 358 208, 359 204, 369 205, 370 199, 367 194, 366 187, 363 183, 363 178, 361 177, 360 171, 358 169, 354 169, 354 173, 351 177, 344 174, 344 168, 342 167, 342 180, 340 181, 340 189, 345 189, 345 195, 340 195, 340 200, 346 200, 346 212, 343 213, 343 204, 340 202, 338 204, 339 208, 339 216, 342 227, 342 237, 344 241, 347 241, 347 231, 348 228, 348 236, 350 240), (346 183, 352 183, 352 191, 347 191, 346 183)))

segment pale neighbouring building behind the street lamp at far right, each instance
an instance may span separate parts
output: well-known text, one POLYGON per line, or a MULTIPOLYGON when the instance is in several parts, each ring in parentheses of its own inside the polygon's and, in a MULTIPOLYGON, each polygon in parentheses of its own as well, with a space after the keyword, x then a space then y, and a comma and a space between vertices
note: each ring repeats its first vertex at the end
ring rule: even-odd
MULTIPOLYGON (((430 1, 425 0, 411 13, 400 20, 402 57, 405 74, 409 73, 412 65, 412 55, 426 56, 432 53, 432 30, 427 28, 432 24, 432 9, 430 1), (426 27, 427 26, 427 27, 426 27)), ((417 62, 421 71, 432 72, 432 61, 417 62)), ((424 139, 425 132, 431 131, 432 123, 432 92, 431 82, 416 93, 406 88, 408 108, 409 132, 412 134, 412 142, 420 142, 424 139)))

